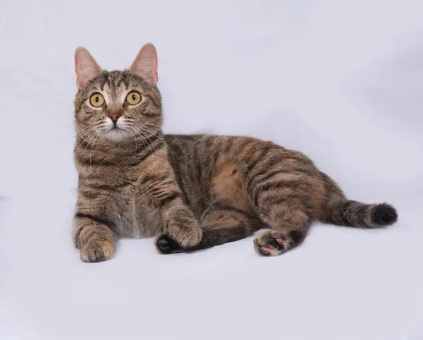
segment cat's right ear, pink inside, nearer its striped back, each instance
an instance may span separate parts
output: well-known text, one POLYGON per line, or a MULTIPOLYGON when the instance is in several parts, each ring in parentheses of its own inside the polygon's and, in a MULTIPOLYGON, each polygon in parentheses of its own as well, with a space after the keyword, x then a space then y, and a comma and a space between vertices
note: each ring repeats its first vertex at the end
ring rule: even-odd
POLYGON ((145 44, 129 68, 130 73, 139 75, 150 85, 157 83, 157 51, 153 44, 145 44))

